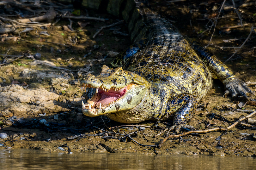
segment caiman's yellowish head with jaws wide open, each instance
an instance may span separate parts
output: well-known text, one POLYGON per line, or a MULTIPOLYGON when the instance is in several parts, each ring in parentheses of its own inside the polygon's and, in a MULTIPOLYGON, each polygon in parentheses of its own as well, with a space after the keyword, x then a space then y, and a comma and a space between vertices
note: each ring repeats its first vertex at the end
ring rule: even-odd
POLYGON ((87 103, 82 101, 83 114, 100 116, 136 107, 148 92, 149 82, 122 67, 113 69, 103 65, 100 75, 85 76, 80 86, 85 91, 86 88, 96 89, 87 103))

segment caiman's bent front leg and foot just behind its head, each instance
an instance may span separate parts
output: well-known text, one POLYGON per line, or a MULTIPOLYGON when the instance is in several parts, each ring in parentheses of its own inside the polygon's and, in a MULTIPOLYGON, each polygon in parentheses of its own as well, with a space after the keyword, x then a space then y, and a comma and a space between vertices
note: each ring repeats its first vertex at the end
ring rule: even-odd
POLYGON ((180 128, 195 129, 188 125, 187 122, 193 116, 197 106, 197 100, 189 93, 183 93, 171 99, 168 105, 168 112, 175 112, 175 115, 173 126, 170 129, 175 129, 176 133, 180 131, 180 128))

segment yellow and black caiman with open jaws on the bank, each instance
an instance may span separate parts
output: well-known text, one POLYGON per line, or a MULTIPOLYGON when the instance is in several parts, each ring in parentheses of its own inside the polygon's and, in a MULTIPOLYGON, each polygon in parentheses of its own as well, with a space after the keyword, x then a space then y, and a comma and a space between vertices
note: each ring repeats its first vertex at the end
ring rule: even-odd
MULTIPOLYGON (((193 129, 188 120, 212 87, 212 71, 232 97, 252 93, 215 55, 191 42, 142 1, 83 0, 82 5, 106 8, 128 25, 134 44, 119 54, 98 76, 85 76, 81 88, 95 88, 86 116, 107 115, 122 123, 162 121, 174 117, 171 129, 193 129), (199 53, 200 57, 198 56, 199 53)), ((248 99, 248 98, 247 98, 248 99)))

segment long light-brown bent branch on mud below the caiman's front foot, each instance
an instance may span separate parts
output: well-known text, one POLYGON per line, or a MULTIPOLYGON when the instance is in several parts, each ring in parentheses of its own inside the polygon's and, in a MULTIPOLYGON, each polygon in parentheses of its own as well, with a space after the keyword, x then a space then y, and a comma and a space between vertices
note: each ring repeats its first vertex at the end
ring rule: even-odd
POLYGON ((245 117, 242 117, 240 118, 238 121, 236 121, 235 123, 233 123, 232 125, 230 125, 229 127, 227 128, 222 128, 222 127, 215 127, 215 128, 212 128, 212 129, 208 129, 208 130, 191 130, 191 131, 188 131, 186 133, 182 133, 182 134, 176 134, 176 135, 169 135, 167 136, 166 138, 164 138, 163 140, 161 140, 160 144, 157 146, 158 148, 162 147, 163 143, 168 140, 169 138, 178 138, 180 136, 185 136, 185 135, 188 135, 190 133, 208 133, 208 132, 212 132, 212 131, 216 131, 216 130, 222 130, 222 131, 227 131, 229 130, 230 128, 234 127, 235 125, 237 125, 239 122, 243 121, 244 119, 248 118, 248 117, 251 117, 253 116, 254 114, 256 114, 256 111, 253 111, 253 113, 245 116, 245 117))

